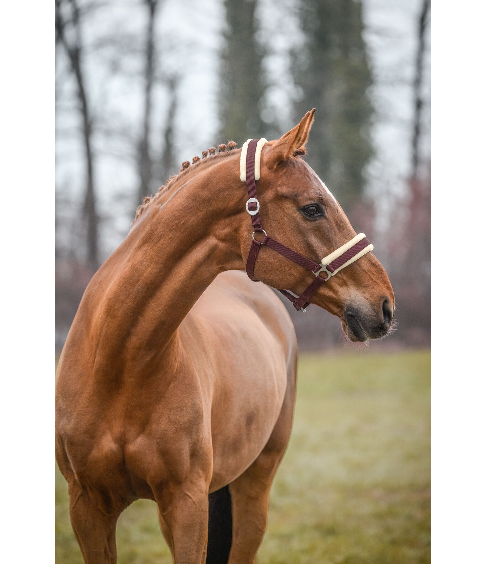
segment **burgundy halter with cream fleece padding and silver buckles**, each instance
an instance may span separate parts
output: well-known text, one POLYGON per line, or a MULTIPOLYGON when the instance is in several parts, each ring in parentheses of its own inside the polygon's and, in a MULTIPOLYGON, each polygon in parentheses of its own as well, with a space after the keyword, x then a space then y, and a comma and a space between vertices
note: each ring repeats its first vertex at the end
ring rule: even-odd
POLYGON ((308 268, 308 270, 316 275, 316 279, 308 285, 300 296, 293 296, 290 292, 287 292, 287 290, 279 290, 286 298, 290 299, 296 310, 305 311, 310 303, 309 299, 321 284, 324 284, 331 276, 334 276, 344 267, 351 265, 351 263, 357 261, 358 258, 370 252, 370 250, 373 250, 373 245, 366 239, 364 233, 360 233, 356 235, 356 237, 353 237, 351 241, 348 241, 348 243, 340 246, 339 249, 328 254, 320 263, 317 263, 295 252, 295 250, 289 249, 287 246, 282 245, 282 243, 278 243, 278 241, 275 241, 272 237, 269 237, 261 226, 260 202, 257 199, 256 193, 256 180, 260 179, 261 149, 266 142, 267 140, 263 138, 248 139, 248 141, 243 144, 240 156, 240 179, 242 182, 246 182, 248 191, 248 200, 245 207, 251 217, 253 226, 252 243, 248 253, 246 271, 251 280, 257 281, 254 275, 255 262, 262 245, 266 245, 270 247, 270 249, 277 251, 277 253, 282 254, 284 257, 290 258, 290 260, 296 262, 297 265, 308 268), (255 239, 255 233, 260 232, 264 233, 264 237, 261 241, 255 239), (321 276, 322 272, 327 274, 326 278, 321 276))

